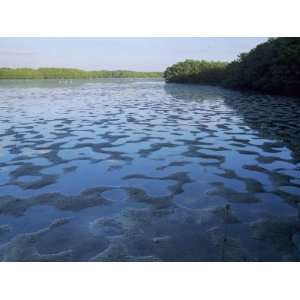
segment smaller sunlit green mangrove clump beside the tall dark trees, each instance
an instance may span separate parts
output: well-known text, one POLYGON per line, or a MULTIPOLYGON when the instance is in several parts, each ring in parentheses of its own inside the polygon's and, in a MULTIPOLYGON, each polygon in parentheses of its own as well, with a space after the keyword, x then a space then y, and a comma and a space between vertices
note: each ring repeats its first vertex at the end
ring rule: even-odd
POLYGON ((223 80, 225 67, 223 62, 188 59, 168 67, 164 77, 166 82, 215 85, 223 80))

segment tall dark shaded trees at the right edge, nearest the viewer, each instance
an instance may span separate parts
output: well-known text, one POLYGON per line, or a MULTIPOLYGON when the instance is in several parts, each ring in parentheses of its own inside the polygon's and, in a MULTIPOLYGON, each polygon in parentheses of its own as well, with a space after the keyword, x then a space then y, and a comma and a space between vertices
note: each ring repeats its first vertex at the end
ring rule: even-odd
POLYGON ((230 63, 225 87, 300 96, 300 38, 275 38, 230 63))

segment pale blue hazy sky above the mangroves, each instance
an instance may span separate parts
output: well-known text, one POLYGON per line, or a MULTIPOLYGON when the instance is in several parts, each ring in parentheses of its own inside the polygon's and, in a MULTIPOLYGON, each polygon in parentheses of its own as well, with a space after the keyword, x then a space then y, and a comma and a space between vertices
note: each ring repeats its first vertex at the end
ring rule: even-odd
POLYGON ((267 38, 0 38, 0 67, 164 71, 185 59, 232 61, 267 38))

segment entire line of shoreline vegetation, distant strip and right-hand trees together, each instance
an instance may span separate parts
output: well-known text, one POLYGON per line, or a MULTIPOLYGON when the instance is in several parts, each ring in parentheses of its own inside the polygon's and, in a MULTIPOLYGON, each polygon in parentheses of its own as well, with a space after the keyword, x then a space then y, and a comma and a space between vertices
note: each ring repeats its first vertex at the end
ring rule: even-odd
POLYGON ((164 72, 86 71, 75 68, 0 68, 1 79, 164 78, 166 83, 218 85, 265 94, 300 96, 300 38, 270 38, 228 63, 187 59, 164 72))

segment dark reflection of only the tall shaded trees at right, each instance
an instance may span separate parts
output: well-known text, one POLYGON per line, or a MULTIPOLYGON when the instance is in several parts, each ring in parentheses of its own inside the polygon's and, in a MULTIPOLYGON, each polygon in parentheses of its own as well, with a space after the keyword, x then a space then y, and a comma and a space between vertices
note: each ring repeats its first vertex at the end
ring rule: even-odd
POLYGON ((283 142, 300 161, 300 99, 234 93, 224 102, 259 136, 283 142))

